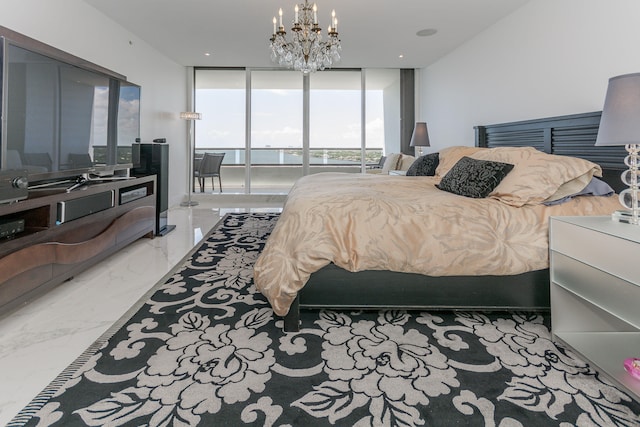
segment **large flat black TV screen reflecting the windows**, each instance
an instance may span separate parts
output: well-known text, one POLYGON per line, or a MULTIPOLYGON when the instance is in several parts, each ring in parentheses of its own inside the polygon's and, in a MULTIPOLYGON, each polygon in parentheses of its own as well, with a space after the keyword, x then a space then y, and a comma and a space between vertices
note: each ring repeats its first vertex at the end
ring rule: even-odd
POLYGON ((29 181, 131 166, 140 87, 3 38, 1 169, 29 181))

